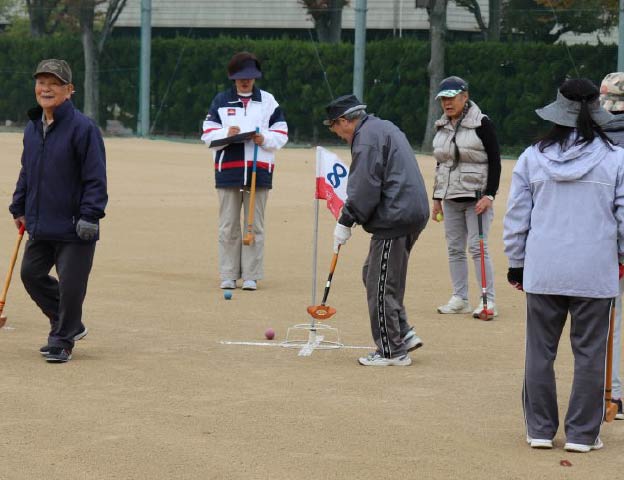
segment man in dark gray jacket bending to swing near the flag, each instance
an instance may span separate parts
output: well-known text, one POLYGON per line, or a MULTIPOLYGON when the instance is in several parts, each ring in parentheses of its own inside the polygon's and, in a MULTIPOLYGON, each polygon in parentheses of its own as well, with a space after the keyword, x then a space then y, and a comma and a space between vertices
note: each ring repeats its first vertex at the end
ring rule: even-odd
POLYGON ((334 230, 334 251, 362 225, 372 234, 362 277, 377 350, 359 359, 366 366, 406 366, 422 340, 407 321, 403 297, 412 247, 425 228, 429 202, 423 177, 405 134, 366 113, 355 95, 327 106, 329 126, 351 145, 347 200, 334 230))

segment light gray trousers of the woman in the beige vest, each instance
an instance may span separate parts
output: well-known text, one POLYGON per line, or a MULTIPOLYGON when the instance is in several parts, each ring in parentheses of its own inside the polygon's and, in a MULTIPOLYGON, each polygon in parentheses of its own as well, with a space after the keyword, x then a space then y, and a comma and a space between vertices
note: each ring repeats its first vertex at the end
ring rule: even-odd
MULTIPOLYGON (((466 247, 474 262, 479 292, 481 291, 481 249, 479 248, 479 223, 474 202, 444 201, 444 232, 448 248, 449 270, 453 282, 453 295, 468 300, 468 260, 466 247)), ((494 302, 494 270, 488 253, 487 238, 494 218, 494 209, 481 214, 483 221, 483 246, 488 301, 494 302)))

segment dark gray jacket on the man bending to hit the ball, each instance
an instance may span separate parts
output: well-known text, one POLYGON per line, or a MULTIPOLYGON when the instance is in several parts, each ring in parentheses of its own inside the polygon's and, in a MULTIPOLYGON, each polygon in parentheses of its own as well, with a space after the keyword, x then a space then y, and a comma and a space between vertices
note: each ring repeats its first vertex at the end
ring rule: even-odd
POLYGON ((366 115, 355 129, 351 157, 339 222, 358 223, 377 239, 420 233, 429 218, 429 201, 405 134, 387 120, 366 115))

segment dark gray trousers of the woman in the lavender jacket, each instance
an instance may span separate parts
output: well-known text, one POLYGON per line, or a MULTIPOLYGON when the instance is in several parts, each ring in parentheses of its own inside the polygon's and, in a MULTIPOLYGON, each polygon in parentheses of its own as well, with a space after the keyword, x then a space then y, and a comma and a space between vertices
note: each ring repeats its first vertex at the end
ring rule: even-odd
POLYGON ((574 380, 565 418, 566 438, 585 445, 596 441, 604 409, 611 300, 527 293, 523 407, 530 437, 552 439, 559 428, 553 364, 569 312, 574 380))

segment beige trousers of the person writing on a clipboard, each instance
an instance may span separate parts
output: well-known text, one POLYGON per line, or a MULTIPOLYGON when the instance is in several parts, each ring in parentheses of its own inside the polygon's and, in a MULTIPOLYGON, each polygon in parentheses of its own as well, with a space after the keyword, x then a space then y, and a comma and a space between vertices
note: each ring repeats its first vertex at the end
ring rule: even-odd
POLYGON ((268 188, 256 188, 254 243, 243 245, 249 215, 249 191, 239 187, 217 188, 219 194, 219 273, 221 280, 260 280, 264 260, 264 209, 268 188), (241 207, 243 225, 241 229, 241 207))

